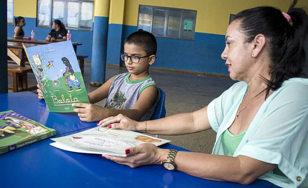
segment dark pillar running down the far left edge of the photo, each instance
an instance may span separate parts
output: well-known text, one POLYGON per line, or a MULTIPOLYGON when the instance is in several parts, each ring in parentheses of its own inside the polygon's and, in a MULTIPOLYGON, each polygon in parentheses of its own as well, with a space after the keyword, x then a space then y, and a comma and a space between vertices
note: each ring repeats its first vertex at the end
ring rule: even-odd
POLYGON ((0 1, 0 94, 7 93, 7 0, 0 1))

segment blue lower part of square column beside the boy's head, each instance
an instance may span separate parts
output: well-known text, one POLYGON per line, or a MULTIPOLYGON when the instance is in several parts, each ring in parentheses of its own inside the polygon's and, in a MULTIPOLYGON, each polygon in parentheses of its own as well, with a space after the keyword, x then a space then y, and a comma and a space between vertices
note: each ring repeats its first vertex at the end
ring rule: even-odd
POLYGON ((107 63, 120 66, 120 53, 122 53, 122 24, 109 24, 107 63))

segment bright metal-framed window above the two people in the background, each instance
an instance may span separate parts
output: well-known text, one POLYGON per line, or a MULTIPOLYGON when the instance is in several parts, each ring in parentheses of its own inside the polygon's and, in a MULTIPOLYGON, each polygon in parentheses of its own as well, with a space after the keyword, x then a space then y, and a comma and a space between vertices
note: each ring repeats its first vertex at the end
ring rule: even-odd
POLYGON ((51 27, 60 20, 70 30, 92 30, 94 1, 38 0, 36 25, 51 27))

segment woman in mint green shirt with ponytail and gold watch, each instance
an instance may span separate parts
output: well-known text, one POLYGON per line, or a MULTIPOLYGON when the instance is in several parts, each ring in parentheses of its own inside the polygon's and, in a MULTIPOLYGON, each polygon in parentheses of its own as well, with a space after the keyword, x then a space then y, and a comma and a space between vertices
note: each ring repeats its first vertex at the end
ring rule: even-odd
POLYGON ((128 148, 125 158, 102 157, 131 167, 163 163, 168 170, 209 180, 250 184, 260 178, 282 187, 307 187, 308 79, 298 77, 308 17, 294 8, 296 2, 287 13, 255 7, 236 15, 221 57, 230 77, 241 82, 205 108, 148 122, 118 115, 98 123, 161 135, 212 128, 217 132, 213 154, 142 144, 128 148))

